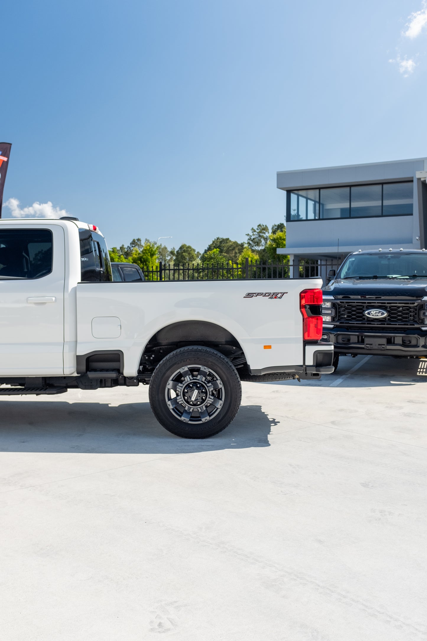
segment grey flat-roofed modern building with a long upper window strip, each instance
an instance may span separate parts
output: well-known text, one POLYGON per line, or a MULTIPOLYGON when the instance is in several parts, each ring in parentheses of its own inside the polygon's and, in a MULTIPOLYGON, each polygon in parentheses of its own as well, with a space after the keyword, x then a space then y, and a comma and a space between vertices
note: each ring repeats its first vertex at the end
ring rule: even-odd
POLYGON ((277 172, 286 249, 316 262, 358 249, 427 247, 427 158, 277 172))

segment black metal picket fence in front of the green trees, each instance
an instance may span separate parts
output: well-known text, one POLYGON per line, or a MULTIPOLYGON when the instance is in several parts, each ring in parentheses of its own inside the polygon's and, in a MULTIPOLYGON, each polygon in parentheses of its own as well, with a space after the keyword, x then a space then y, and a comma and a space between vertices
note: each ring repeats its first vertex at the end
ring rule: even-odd
POLYGON ((182 280, 241 280, 241 279, 277 279, 277 278, 312 278, 318 276, 326 281, 330 269, 341 265, 341 260, 328 258, 314 260, 298 258, 289 262, 252 262, 246 258, 244 263, 157 263, 154 267, 141 267, 145 278, 150 281, 182 280))

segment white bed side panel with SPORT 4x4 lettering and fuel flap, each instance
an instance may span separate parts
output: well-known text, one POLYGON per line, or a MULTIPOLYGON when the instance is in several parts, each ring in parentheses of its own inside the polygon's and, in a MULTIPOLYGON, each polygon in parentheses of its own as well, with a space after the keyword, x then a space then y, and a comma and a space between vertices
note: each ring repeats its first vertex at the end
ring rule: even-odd
POLYGON ((234 335, 252 369, 301 365, 299 294, 313 287, 321 287, 321 280, 79 283, 77 355, 120 349, 125 376, 134 376, 156 331, 181 320, 205 320, 234 335), (284 294, 267 296, 274 292, 284 294))

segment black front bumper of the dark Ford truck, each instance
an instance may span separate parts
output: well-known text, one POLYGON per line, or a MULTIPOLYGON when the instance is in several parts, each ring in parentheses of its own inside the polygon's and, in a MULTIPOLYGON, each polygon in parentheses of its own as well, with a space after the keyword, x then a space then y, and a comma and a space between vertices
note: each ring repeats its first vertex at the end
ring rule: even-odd
POLYGON ((427 331, 423 329, 365 331, 342 327, 324 328, 322 340, 334 344, 335 354, 427 356, 427 331))

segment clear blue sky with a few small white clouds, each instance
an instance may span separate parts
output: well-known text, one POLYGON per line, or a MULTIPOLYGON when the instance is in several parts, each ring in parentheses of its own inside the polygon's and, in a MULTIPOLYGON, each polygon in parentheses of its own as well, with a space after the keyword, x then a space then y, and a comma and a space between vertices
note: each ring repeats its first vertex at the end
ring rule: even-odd
POLYGON ((427 156, 422 0, 14 0, 0 19, 4 200, 109 246, 244 240, 284 221, 277 171, 427 156))

